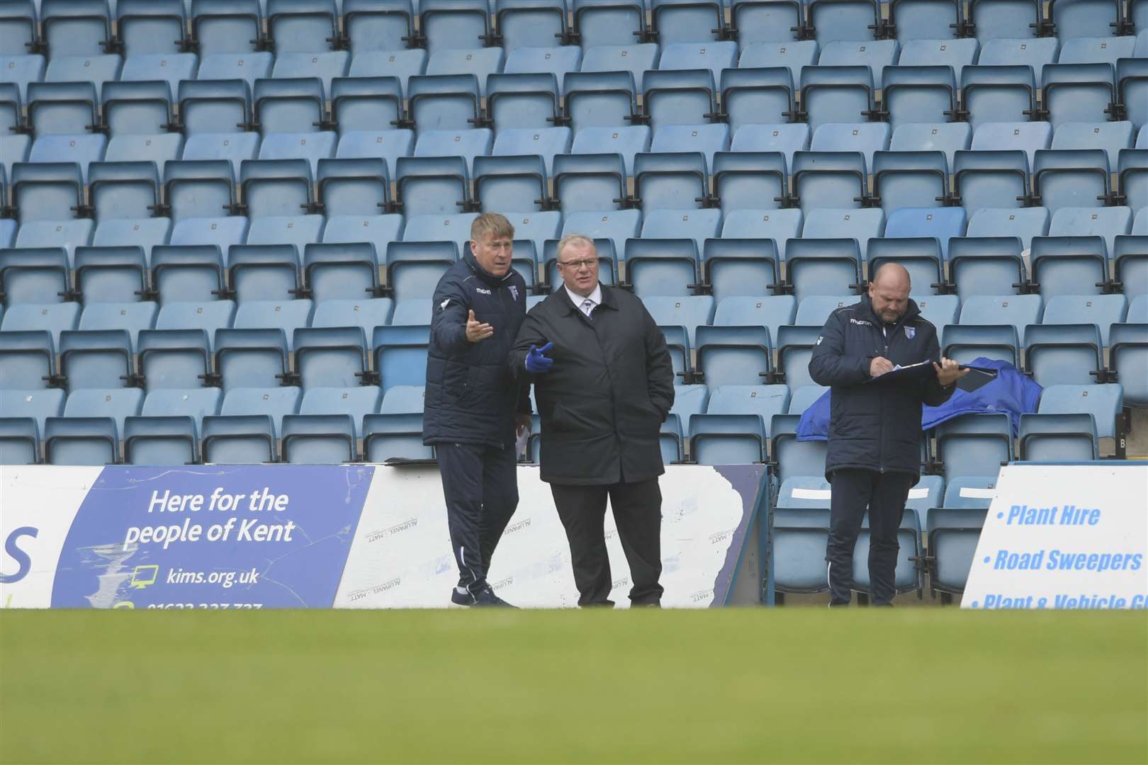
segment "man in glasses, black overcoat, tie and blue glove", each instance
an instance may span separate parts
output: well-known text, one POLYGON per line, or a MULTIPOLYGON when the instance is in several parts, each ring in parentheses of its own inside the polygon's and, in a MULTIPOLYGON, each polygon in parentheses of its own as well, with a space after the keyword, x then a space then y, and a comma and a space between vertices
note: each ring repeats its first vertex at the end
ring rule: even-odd
POLYGON ((613 606, 606 499, 630 565, 630 602, 659 606, 658 431, 674 404, 666 341, 633 294, 598 282, 594 241, 558 244, 563 287, 527 314, 510 367, 533 377, 542 479, 566 529, 580 606, 613 606))

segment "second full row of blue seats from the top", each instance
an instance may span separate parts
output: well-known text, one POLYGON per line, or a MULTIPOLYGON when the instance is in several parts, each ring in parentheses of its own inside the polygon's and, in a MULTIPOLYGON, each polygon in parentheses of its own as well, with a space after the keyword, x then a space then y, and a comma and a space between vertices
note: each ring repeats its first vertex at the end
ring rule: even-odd
POLYGON ((718 122, 728 122, 736 131, 742 124, 808 122, 817 127, 870 119, 894 126, 948 120, 976 126, 1127 118, 1139 130, 1148 119, 1148 32, 1143 40, 1146 49, 1135 57, 1062 61, 1042 64, 1039 71, 1031 64, 969 64, 959 71, 937 63, 867 64, 848 56, 830 64, 824 54, 820 65, 762 55, 750 62, 752 67, 735 69, 727 65, 731 62, 706 65, 678 56, 682 65, 674 69, 653 70, 633 61, 629 69, 608 63, 602 69, 587 61, 581 71, 506 73, 501 73, 501 65, 483 72, 471 61, 457 68, 429 67, 427 73, 398 65, 317 72, 316 64, 288 68, 289 62, 264 72, 245 63, 236 71, 211 72, 199 80, 170 72, 170 79, 117 81, 78 65, 78 71, 49 72, 46 81, 38 81, 22 78, 9 67, 0 97, 16 112, 22 103, 28 104, 26 123, 18 123, 17 128, 36 135, 78 134, 85 128, 188 134, 236 128, 264 133, 413 128, 421 133, 472 125, 581 130, 718 122), (350 77, 344 76, 348 71, 350 77), (267 79, 270 73, 276 78, 267 79), (177 106, 179 118, 173 119, 177 106), (139 126, 133 127, 133 122, 139 126))

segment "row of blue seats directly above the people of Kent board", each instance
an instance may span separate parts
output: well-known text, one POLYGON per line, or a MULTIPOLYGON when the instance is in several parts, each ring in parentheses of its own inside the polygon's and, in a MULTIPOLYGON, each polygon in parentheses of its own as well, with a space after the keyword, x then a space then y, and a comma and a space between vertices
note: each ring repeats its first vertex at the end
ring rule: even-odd
MULTIPOLYGON (((254 350, 254 349, 253 349, 254 350)), ((1141 354, 1148 353, 1142 344, 1141 354)), ((91 364, 90 364, 91 366, 91 364)), ((827 389, 807 385, 790 389, 783 384, 723 385, 707 389, 703 385, 680 387, 674 409, 661 428, 664 460, 700 465, 743 465, 769 461, 775 476, 786 483, 801 476, 821 481, 824 471, 824 442, 798 440, 798 423, 802 411, 820 398, 827 389)), ((121 460, 117 448, 118 434, 124 439, 137 426, 150 426, 152 435, 166 435, 179 440, 197 434, 207 437, 214 426, 236 426, 235 435, 259 434, 259 450, 230 455, 240 462, 274 460, 274 442, 284 440, 287 448, 294 426, 310 424, 311 432, 334 432, 341 436, 346 451, 323 459, 311 455, 304 461, 346 462, 357 459, 355 442, 364 438, 364 456, 371 461, 387 459, 433 459, 430 447, 421 444, 421 387, 396 387, 383 396, 379 388, 359 387, 313 388, 238 388, 225 395, 216 388, 157 389, 145 393, 134 388, 80 389, 67 397, 62 390, 5 390, 0 392, 9 405, 24 405, 22 416, 0 420, 0 448, 21 450, 5 454, 6 465, 31 463, 41 460, 39 434, 48 442, 42 459, 52 463, 104 463, 121 460), (59 416, 61 414, 63 416, 59 416), (325 420, 320 420, 325 419, 325 420), (380 444, 386 451, 373 452, 370 436, 385 424, 402 422, 404 438, 391 430, 391 440, 380 444), (327 428, 326 431, 316 428, 327 428), (20 434, 31 436, 21 439, 20 434), (77 458, 53 455, 51 440, 54 434, 79 438, 94 438, 98 455, 83 453, 86 462, 68 462, 77 458), (110 446, 110 451, 106 448, 110 446), (271 448, 267 454, 262 450, 271 448)), ((1022 415, 1018 439, 1014 443, 1013 426, 1002 413, 962 415, 934 429, 932 438, 922 440, 922 468, 929 474, 943 475, 945 481, 968 476, 991 475, 1002 462, 1014 459, 1035 460, 1094 460, 1100 456, 1100 439, 1117 437, 1124 400, 1119 384, 1052 385, 1041 395, 1039 411, 1022 415)), ((527 461, 538 456, 538 422, 530 436, 527 461)), ((248 438, 248 440, 250 440, 248 438)), ((250 444, 248 444, 250 447, 250 444)), ((199 461, 201 451, 192 450, 185 459, 170 463, 199 461)), ((289 454, 284 455, 287 461, 289 454)), ((161 459, 146 452, 132 458, 125 450, 126 461, 145 463, 161 459)), ((204 461, 220 461, 202 452, 204 461)), ((161 460, 157 463, 166 463, 161 460)), ((777 498, 778 507, 801 505, 800 499, 784 490, 777 498)), ((808 506, 808 505, 806 505, 808 506)))

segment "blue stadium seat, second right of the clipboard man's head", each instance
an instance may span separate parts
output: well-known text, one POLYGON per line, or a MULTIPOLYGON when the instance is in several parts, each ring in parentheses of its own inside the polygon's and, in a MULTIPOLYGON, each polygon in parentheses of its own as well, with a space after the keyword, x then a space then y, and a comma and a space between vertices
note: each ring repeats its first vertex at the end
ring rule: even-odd
POLYGON ((1108 283, 1108 248, 1101 236, 1033 236, 1027 288, 1048 300, 1100 295, 1108 283))

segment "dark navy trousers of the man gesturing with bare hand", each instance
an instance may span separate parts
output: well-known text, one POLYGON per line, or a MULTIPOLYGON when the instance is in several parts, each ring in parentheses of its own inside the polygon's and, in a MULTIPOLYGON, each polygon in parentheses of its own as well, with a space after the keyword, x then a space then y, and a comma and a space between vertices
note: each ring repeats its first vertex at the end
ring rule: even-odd
POLYGON ((450 546, 458 586, 471 593, 487 586, 490 557, 518 507, 514 450, 481 444, 436 444, 447 500, 450 546))

